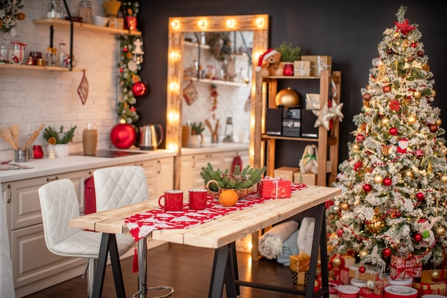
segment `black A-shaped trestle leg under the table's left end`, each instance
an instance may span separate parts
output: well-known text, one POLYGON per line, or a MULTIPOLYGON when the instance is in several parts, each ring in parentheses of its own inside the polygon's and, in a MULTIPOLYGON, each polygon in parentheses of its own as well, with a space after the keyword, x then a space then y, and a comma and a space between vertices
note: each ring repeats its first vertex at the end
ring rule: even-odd
POLYGON ((112 272, 114 274, 116 297, 126 298, 123 275, 121 273, 121 263, 119 261, 118 246, 116 245, 116 235, 109 233, 102 233, 98 265, 96 268, 95 280, 93 285, 93 297, 101 298, 102 288, 104 285, 104 276, 106 274, 107 257, 109 257, 109 253, 112 272))

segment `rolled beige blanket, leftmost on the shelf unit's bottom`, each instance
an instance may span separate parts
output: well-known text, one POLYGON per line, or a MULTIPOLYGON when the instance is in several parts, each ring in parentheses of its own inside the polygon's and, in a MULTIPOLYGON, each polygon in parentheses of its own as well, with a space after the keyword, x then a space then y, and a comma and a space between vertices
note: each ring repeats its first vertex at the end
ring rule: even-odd
POLYGON ((294 220, 272 227, 262 235, 258 242, 258 252, 267 259, 275 259, 283 251, 283 242, 298 229, 294 220))

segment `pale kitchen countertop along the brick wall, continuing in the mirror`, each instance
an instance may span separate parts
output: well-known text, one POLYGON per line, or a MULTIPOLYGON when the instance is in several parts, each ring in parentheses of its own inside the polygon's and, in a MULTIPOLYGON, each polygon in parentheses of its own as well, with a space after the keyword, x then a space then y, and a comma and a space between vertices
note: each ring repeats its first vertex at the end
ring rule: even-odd
MULTIPOLYGON (((225 152, 231 150, 247 150, 248 144, 243 143, 218 143, 205 144, 199 148, 181 148, 181 154, 204 154, 214 152, 225 152)), ((31 169, 11 169, 0 171, 0 182, 11 182, 22 179, 30 179, 45 175, 55 175, 66 172, 82 171, 86 169, 96 169, 100 167, 113 167, 119 164, 131 162, 141 162, 142 160, 158 159, 163 157, 175 157, 175 152, 166 149, 142 151, 139 149, 119 149, 119 151, 139 152, 139 154, 124 157, 86 157, 83 155, 71 154, 68 157, 49 159, 29 159, 28 162, 17 163, 22 166, 32 167, 31 169)), ((14 152, 0 152, 1 161, 14 161, 14 152)))

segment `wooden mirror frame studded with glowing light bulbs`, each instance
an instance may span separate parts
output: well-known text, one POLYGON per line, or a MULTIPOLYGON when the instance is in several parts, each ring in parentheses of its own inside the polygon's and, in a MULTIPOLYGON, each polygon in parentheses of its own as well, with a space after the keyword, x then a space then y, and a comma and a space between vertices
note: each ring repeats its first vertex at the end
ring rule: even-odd
POLYGON ((255 68, 258 58, 268 49, 268 15, 239 16, 179 16, 169 18, 168 79, 166 91, 166 149, 176 152, 174 159, 174 189, 180 187, 182 105, 184 89, 184 33, 185 32, 253 31, 253 52, 251 55, 251 114, 250 114, 250 164, 253 161, 253 136, 255 114, 255 68))

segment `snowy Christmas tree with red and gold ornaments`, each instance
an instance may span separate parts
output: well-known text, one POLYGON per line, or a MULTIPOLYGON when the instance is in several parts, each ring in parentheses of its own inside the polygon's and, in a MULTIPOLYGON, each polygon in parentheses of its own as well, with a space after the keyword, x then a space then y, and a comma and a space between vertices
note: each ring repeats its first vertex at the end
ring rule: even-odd
POLYGON ((398 9, 378 44, 361 113, 353 117, 355 140, 333 184, 343 194, 326 203, 329 267, 350 253, 359 272, 366 264, 416 266, 392 279, 420 277, 423 264, 439 268, 447 247, 445 130, 441 110, 431 105, 436 91, 422 34, 404 18, 406 9, 398 9))

